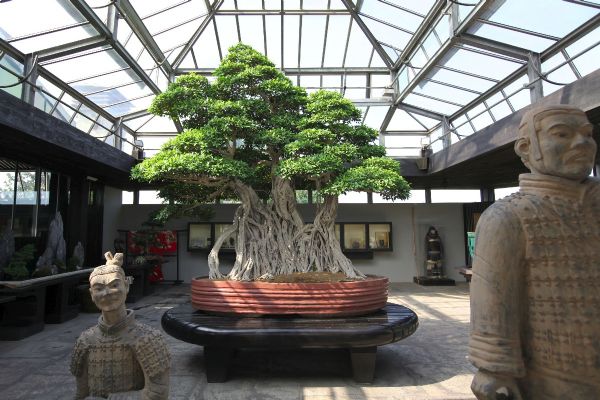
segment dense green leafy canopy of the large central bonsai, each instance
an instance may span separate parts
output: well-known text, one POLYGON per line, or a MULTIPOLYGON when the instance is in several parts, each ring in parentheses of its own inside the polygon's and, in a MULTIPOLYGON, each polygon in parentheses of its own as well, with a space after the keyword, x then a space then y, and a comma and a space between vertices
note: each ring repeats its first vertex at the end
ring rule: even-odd
POLYGON ((244 44, 229 49, 214 75, 213 82, 179 77, 150 107, 186 129, 132 170, 134 179, 158 184, 170 201, 159 220, 205 213, 215 198, 235 198, 239 183, 269 198, 274 174, 324 195, 408 196, 398 163, 374 161, 385 155, 374 144, 377 131, 361 125, 360 110, 339 93, 307 96, 244 44))

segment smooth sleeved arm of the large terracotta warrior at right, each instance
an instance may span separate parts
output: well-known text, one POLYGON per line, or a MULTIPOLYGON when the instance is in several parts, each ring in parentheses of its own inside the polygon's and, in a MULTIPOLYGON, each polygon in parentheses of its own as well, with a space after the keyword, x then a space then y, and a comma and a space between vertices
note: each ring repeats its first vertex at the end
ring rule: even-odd
POLYGON ((472 389, 495 399, 507 388, 519 399, 516 378, 525 375, 521 350, 525 238, 518 217, 496 204, 481 217, 471 281, 469 358, 479 369, 472 389))

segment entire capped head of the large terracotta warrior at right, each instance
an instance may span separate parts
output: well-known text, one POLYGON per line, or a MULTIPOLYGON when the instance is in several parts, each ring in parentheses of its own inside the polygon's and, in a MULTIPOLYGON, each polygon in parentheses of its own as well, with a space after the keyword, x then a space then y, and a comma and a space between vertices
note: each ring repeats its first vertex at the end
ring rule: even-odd
POLYGON ((592 130, 579 108, 562 104, 535 107, 521 120, 515 152, 534 174, 580 182, 594 167, 592 130))

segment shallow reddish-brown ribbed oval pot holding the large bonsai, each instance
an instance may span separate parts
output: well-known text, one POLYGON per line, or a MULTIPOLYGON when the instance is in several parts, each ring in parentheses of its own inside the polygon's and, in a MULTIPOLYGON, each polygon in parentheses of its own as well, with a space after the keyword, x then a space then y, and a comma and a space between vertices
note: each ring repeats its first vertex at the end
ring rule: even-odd
POLYGON ((192 306, 220 314, 304 316, 361 315, 385 306, 388 278, 362 281, 272 283, 192 279, 192 306))

